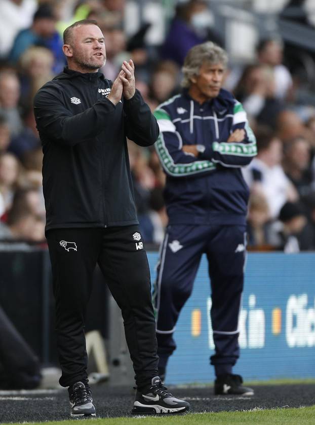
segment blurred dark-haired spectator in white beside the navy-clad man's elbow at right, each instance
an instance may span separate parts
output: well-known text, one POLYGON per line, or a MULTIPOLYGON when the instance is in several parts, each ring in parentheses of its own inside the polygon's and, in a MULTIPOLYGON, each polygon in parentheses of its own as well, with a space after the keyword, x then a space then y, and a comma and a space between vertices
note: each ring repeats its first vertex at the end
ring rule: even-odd
POLYGON ((296 201, 297 191, 282 168, 282 142, 268 128, 256 130, 257 157, 245 167, 243 175, 252 191, 263 193, 270 218, 276 219, 286 201, 296 201))

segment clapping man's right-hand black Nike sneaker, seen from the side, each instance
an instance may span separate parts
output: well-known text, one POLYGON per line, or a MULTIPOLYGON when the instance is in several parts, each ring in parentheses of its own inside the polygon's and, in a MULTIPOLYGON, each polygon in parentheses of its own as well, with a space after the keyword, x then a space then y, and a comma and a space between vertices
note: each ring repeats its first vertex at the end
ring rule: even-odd
POLYGON ((189 410, 189 403, 176 399, 165 386, 159 376, 152 378, 151 386, 144 391, 137 390, 132 413, 160 414, 182 413, 189 410))

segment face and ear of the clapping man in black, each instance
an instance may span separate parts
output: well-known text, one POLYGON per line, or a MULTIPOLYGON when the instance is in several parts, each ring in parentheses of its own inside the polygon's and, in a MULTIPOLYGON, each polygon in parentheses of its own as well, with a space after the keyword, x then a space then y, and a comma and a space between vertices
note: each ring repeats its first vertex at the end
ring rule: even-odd
POLYGON ((105 40, 96 25, 81 25, 72 29, 70 44, 64 45, 68 59, 78 65, 83 72, 97 70, 106 61, 105 40))

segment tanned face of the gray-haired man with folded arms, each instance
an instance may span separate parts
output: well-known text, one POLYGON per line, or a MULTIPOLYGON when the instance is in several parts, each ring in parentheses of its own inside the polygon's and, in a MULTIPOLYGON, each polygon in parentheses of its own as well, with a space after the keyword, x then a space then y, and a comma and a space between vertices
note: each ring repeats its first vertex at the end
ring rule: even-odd
POLYGON ((200 101, 217 97, 223 83, 224 70, 221 63, 204 62, 199 75, 191 79, 190 95, 200 101))

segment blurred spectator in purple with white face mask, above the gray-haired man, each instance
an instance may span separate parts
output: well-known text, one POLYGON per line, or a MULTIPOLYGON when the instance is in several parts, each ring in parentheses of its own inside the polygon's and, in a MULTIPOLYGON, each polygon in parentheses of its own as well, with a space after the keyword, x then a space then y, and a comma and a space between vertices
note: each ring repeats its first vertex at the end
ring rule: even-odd
POLYGON ((182 66, 188 50, 196 44, 211 40, 222 46, 222 40, 211 30, 212 20, 207 2, 190 0, 179 3, 162 46, 162 58, 174 60, 182 66))

